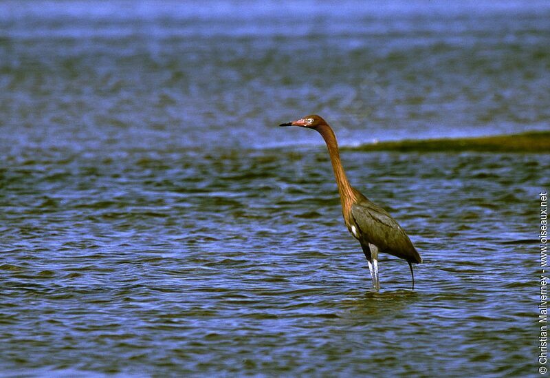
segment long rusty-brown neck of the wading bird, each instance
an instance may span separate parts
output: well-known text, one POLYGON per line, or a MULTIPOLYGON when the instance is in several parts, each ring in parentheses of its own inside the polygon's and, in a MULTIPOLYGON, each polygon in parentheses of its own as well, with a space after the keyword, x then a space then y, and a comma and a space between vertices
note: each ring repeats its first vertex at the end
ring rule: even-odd
POLYGON ((355 194, 351 185, 349 185, 346 172, 342 167, 340 161, 340 152, 338 151, 338 143, 336 142, 336 136, 329 125, 319 125, 316 130, 321 134, 322 138, 327 143, 329 149, 329 156, 331 157, 332 169, 334 171, 334 178, 336 178, 336 185, 338 185, 338 192, 340 193, 340 202, 342 202, 342 213, 344 218, 347 218, 347 213, 351 210, 351 205, 355 202, 355 194))

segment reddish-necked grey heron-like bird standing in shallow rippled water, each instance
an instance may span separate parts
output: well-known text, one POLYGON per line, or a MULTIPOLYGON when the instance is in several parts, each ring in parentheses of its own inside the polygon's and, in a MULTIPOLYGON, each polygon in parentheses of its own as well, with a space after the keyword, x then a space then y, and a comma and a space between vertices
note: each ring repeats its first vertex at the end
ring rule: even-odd
POLYGON ((378 253, 389 253, 408 262, 412 275, 412 288, 415 288, 415 273, 412 263, 422 262, 415 246, 412 245, 405 231, 382 207, 371 202, 360 191, 351 187, 340 161, 338 143, 331 127, 320 116, 312 115, 294 122, 281 123, 279 126, 300 126, 316 130, 327 143, 332 162, 336 185, 342 202, 342 215, 348 231, 359 240, 369 270, 373 277, 373 287, 380 288, 378 277, 378 253))

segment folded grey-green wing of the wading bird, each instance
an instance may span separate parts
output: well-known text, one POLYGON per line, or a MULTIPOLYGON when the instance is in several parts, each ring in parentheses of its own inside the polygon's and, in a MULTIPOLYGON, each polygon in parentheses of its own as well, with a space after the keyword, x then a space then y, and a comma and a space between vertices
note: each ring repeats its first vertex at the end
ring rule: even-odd
POLYGON ((410 262, 422 262, 405 231, 382 207, 364 199, 352 205, 351 215, 364 240, 375 244, 380 252, 410 262))

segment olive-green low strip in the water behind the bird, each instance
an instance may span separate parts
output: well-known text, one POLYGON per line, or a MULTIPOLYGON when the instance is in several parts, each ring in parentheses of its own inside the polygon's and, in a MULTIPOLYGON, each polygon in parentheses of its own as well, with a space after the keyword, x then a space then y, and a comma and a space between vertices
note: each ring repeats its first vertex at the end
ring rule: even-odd
POLYGON ((399 140, 372 143, 359 147, 342 147, 342 149, 352 151, 483 151, 549 154, 550 132, 526 132, 478 138, 399 140))

